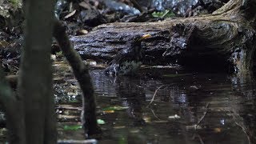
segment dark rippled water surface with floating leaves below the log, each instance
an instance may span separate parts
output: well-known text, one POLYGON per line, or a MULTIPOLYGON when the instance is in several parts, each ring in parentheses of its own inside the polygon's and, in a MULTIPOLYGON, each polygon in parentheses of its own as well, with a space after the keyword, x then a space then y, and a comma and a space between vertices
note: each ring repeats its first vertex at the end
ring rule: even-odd
MULTIPOLYGON (((99 143, 256 142, 256 93, 251 78, 217 73, 169 74, 161 69, 149 74, 110 78, 102 70, 91 71, 98 118, 106 122, 101 125, 99 143)), ((65 80, 76 85, 69 78, 72 76, 65 80)), ((80 103, 59 103, 74 109, 67 114, 73 116, 59 118, 59 138, 84 138, 82 130, 62 130, 63 125, 79 121, 80 103)))

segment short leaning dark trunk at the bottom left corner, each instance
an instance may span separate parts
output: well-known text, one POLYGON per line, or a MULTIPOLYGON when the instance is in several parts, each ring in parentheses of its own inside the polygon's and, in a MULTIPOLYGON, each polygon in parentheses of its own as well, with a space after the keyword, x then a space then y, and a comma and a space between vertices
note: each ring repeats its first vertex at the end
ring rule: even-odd
POLYGON ((8 142, 26 144, 23 103, 11 90, 0 68, 0 106, 6 114, 8 142))

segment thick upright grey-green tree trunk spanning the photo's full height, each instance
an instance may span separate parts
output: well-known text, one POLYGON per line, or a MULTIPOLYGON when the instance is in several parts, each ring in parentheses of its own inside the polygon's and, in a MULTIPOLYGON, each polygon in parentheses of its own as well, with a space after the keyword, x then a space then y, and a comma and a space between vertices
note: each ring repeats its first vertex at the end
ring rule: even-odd
POLYGON ((26 143, 56 143, 50 45, 54 1, 26 0, 25 46, 18 79, 24 102, 26 143))

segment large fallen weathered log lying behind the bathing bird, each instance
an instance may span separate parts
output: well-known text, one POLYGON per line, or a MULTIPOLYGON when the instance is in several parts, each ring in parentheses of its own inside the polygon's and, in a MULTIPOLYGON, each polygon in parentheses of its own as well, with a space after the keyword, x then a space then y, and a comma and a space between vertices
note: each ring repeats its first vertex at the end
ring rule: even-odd
POLYGON ((254 8, 253 0, 233 0, 214 14, 163 22, 116 22, 71 41, 84 58, 110 60, 135 34, 151 34, 145 62, 216 66, 246 74, 254 65, 254 8))

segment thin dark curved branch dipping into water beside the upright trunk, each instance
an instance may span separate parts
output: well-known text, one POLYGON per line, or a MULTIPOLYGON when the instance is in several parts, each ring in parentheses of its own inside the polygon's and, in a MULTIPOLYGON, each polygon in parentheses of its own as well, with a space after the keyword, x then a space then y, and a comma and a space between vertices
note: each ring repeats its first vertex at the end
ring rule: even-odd
POLYGON ((74 76, 78 79, 82 90, 82 126, 86 130, 86 134, 100 134, 101 129, 96 119, 94 86, 90 79, 89 66, 82 62, 82 58, 69 41, 65 27, 58 21, 54 22, 54 38, 57 39, 64 56, 70 62, 74 76))

